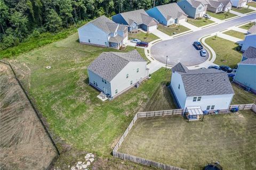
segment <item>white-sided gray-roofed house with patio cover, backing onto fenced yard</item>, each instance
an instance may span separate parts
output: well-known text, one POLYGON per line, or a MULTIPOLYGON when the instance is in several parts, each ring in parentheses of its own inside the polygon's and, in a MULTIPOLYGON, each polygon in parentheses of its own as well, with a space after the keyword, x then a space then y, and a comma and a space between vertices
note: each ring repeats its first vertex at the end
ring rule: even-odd
POLYGON ((179 107, 227 111, 234 90, 227 73, 216 69, 189 70, 182 63, 172 68, 171 89, 179 107))

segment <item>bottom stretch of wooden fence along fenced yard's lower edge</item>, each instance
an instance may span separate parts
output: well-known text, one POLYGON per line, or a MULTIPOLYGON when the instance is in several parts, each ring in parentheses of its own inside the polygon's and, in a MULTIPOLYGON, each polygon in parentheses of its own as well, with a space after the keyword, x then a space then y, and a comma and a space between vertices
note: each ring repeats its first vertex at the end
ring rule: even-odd
POLYGON ((139 163, 139 164, 143 164, 143 165, 147 165, 147 166, 154 166, 154 167, 161 168, 161 169, 164 169, 164 170, 184 170, 182 168, 157 163, 155 161, 143 159, 143 158, 140 158, 140 157, 135 157, 135 156, 132 156, 132 155, 128 155, 126 153, 120 153, 120 152, 116 152, 116 151, 113 151, 113 156, 117 157, 117 158, 124 159, 124 160, 130 160, 130 161, 133 161, 134 163, 139 163))

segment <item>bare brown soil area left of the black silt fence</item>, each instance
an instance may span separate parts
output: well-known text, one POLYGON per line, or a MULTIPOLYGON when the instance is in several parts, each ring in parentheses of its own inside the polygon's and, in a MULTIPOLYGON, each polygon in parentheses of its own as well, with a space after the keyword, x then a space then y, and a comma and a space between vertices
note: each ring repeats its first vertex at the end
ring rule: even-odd
POLYGON ((0 169, 45 169, 57 154, 9 66, 0 63, 0 169))

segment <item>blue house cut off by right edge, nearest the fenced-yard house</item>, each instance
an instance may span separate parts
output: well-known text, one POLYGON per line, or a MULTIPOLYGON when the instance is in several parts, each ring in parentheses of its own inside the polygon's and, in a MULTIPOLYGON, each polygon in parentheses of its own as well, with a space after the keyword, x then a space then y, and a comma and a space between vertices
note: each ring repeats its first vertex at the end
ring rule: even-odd
POLYGON ((249 47, 238 63, 234 82, 256 93, 256 48, 249 47))

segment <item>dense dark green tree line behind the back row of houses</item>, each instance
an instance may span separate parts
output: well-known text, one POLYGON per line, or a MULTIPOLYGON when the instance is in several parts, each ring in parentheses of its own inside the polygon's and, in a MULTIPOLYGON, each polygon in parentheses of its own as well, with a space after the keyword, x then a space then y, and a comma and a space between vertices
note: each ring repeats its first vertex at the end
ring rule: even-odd
POLYGON ((0 0, 1 50, 101 15, 148 10, 173 0, 0 0))

